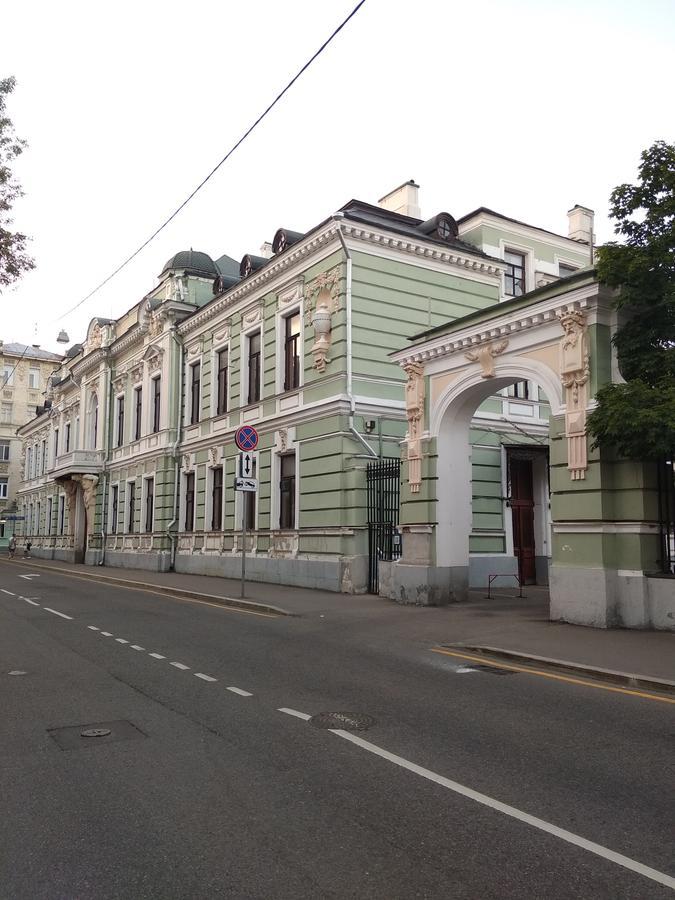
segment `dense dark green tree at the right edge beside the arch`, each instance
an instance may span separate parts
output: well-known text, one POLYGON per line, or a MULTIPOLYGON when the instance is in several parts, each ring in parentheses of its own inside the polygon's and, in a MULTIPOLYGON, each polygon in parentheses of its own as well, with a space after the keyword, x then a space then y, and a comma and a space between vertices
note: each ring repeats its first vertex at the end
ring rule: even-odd
POLYGON ((594 446, 631 459, 675 458, 675 146, 657 141, 641 155, 637 184, 610 197, 624 243, 598 249, 598 279, 618 289, 614 336, 625 384, 597 393, 589 417, 594 446))

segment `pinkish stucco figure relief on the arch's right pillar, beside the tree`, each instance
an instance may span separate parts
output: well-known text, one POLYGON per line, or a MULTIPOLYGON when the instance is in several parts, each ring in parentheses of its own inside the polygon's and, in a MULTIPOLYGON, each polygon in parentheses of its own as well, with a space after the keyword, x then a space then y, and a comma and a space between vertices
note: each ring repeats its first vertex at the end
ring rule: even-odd
POLYGON ((558 313, 565 332, 560 341, 560 379, 565 389, 565 436, 567 468, 572 481, 586 477, 588 445, 586 407, 588 404, 588 353, 586 314, 581 310, 558 313))

